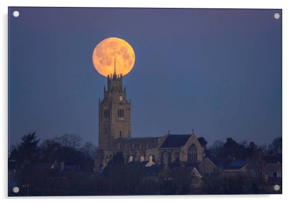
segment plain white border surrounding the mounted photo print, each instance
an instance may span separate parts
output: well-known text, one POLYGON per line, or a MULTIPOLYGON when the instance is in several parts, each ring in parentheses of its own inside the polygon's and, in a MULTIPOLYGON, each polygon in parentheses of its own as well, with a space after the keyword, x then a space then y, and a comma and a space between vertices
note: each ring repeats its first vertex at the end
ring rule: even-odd
MULTIPOLYGON (((1 44, 0 61, 2 63, 1 70, 1 198, 7 199, 7 6, 58 6, 58 7, 170 7, 170 8, 274 8, 283 9, 283 195, 229 195, 229 196, 116 196, 116 197, 60 197, 63 202, 78 203, 85 202, 104 202, 117 201, 127 202, 135 201, 143 202, 168 202, 178 203, 182 199, 184 201, 202 201, 216 203, 248 203, 263 201, 267 203, 288 202, 293 199, 293 145, 294 145, 294 7, 291 0, 1 0, 1 44), (192 200, 193 199, 193 200, 192 200)), ((21 202, 52 202, 57 198, 17 198, 11 199, 13 202, 19 200, 21 202)))

